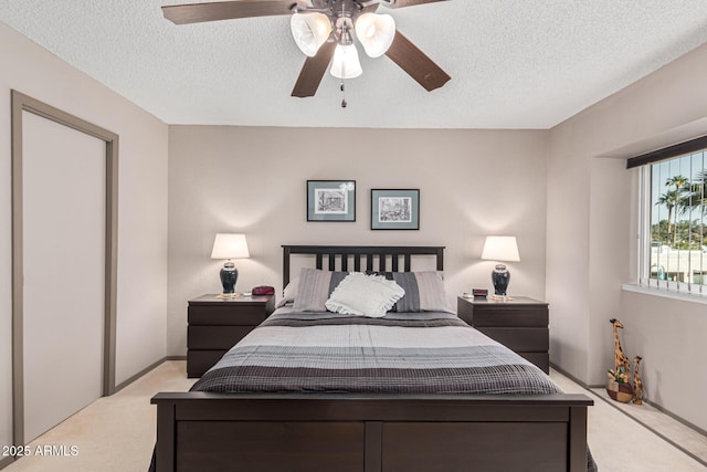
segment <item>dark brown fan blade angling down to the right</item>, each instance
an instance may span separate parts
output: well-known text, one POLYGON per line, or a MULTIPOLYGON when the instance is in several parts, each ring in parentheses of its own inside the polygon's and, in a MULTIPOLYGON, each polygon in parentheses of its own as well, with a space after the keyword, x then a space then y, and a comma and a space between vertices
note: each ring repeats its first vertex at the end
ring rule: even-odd
POLYGON ((452 78, 408 38, 403 36, 400 31, 395 30, 395 38, 386 55, 418 81, 420 85, 425 87, 428 92, 441 87, 452 78))

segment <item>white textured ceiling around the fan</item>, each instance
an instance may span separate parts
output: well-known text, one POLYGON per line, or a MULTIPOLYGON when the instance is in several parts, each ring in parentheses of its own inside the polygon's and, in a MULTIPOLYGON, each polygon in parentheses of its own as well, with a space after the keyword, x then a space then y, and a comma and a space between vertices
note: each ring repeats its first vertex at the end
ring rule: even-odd
POLYGON ((452 81, 426 92, 360 51, 363 75, 348 81, 342 109, 328 73, 315 97, 289 96, 305 56, 288 17, 180 27, 162 18, 160 6, 187 2, 0 0, 0 21, 169 124, 549 128, 707 42, 705 0, 389 10, 452 81))

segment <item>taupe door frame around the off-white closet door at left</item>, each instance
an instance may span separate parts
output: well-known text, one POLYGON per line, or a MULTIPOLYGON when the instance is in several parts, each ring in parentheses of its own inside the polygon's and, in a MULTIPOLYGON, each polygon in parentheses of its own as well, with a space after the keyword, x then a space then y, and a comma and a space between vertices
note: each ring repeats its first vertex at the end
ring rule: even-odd
POLYGON ((115 392, 118 249, 118 135, 12 90, 12 436, 24 443, 24 333, 22 227, 22 112, 29 112, 106 144, 105 298, 102 396, 115 392))

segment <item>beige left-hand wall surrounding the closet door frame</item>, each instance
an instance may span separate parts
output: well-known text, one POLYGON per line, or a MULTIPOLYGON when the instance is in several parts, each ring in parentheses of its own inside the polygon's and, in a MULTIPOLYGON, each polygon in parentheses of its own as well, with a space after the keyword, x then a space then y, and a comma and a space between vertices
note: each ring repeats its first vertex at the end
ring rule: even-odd
POLYGON ((10 90, 120 136, 118 384, 165 356, 167 125, 3 23, 0 57, 0 444, 12 444, 10 90))

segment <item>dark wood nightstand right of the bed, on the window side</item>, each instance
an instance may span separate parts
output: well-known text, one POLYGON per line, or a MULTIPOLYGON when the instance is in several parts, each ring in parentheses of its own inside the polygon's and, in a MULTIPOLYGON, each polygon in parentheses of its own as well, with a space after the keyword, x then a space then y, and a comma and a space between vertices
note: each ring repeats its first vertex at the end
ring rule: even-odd
POLYGON ((514 296, 505 302, 460 296, 456 312, 468 325, 549 374, 550 331, 547 303, 525 296, 514 296))

